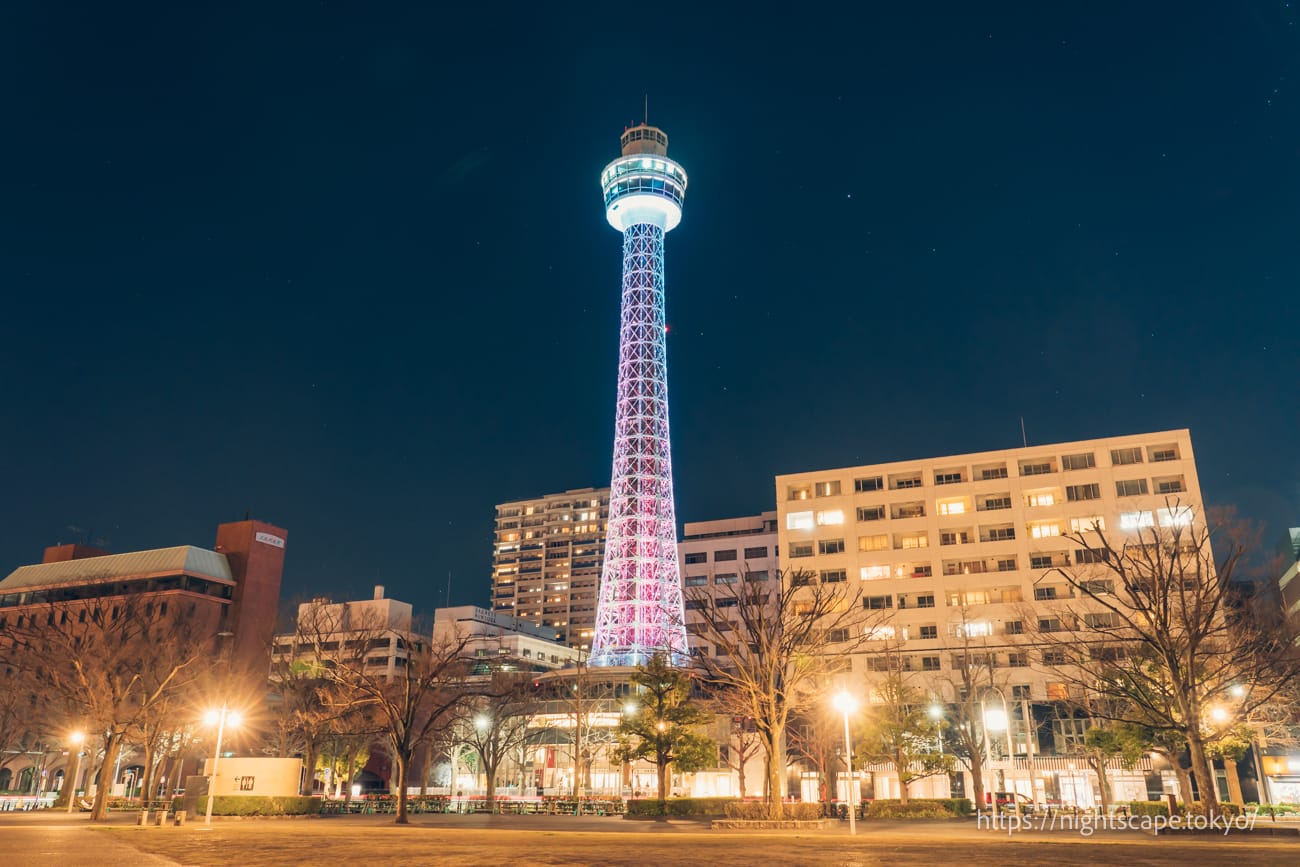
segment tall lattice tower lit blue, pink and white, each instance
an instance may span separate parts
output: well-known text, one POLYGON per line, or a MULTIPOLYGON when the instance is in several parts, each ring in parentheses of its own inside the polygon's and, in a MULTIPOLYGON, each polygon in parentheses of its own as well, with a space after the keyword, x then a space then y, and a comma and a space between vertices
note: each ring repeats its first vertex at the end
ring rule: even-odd
POLYGON ((636 666, 655 653, 686 662, 677 524, 668 451, 663 237, 681 222, 686 173, 654 126, 623 134, 604 166, 604 217, 623 233, 623 312, 614 473, 593 666, 636 666))

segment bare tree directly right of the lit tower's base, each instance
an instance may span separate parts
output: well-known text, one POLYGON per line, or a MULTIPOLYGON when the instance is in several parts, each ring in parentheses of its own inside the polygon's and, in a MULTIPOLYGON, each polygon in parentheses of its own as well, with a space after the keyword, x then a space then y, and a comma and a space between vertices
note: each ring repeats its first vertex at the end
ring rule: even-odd
MULTIPOLYGON (((689 594, 697 633, 716 654, 696 656, 696 668, 715 690, 729 690, 754 720, 763 744, 768 815, 784 815, 785 731, 790 715, 816 694, 824 677, 861 649, 875 612, 859 608, 857 582, 823 582, 801 569, 689 594), (842 660, 842 663, 840 662, 842 660)), ((738 708, 737 708, 738 710, 738 708)))

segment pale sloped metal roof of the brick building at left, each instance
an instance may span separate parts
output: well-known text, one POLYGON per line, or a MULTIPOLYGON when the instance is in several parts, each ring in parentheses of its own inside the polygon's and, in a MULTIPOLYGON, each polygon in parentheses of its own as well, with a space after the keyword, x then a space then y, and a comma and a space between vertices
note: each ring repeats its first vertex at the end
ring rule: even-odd
POLYGON ((0 581, 0 593, 29 588, 55 588, 69 584, 99 584, 114 578, 138 578, 151 575, 194 575, 234 582, 225 554, 192 545, 170 549, 108 554, 61 563, 22 565, 0 581))

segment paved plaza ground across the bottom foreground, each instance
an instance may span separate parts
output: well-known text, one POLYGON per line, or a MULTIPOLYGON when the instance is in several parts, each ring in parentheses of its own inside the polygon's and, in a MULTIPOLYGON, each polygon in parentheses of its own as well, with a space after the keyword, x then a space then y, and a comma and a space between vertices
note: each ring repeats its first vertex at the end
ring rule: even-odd
POLYGON ((131 814, 92 827, 84 815, 0 814, 6 864, 1286 864, 1300 837, 1153 837, 1149 833, 979 831, 974 822, 866 822, 823 832, 710 831, 692 820, 421 815, 218 819, 212 829, 139 828, 131 814))

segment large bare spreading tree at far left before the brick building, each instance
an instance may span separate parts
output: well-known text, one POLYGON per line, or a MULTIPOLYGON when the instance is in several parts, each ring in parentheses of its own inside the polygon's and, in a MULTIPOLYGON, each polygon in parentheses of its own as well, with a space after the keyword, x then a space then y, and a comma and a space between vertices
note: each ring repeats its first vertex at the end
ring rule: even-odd
POLYGON ((126 738, 183 694, 211 656, 209 627, 177 599, 142 595, 48 604, 0 637, 0 664, 32 672, 74 725, 104 737, 92 820, 107 814, 126 738))

